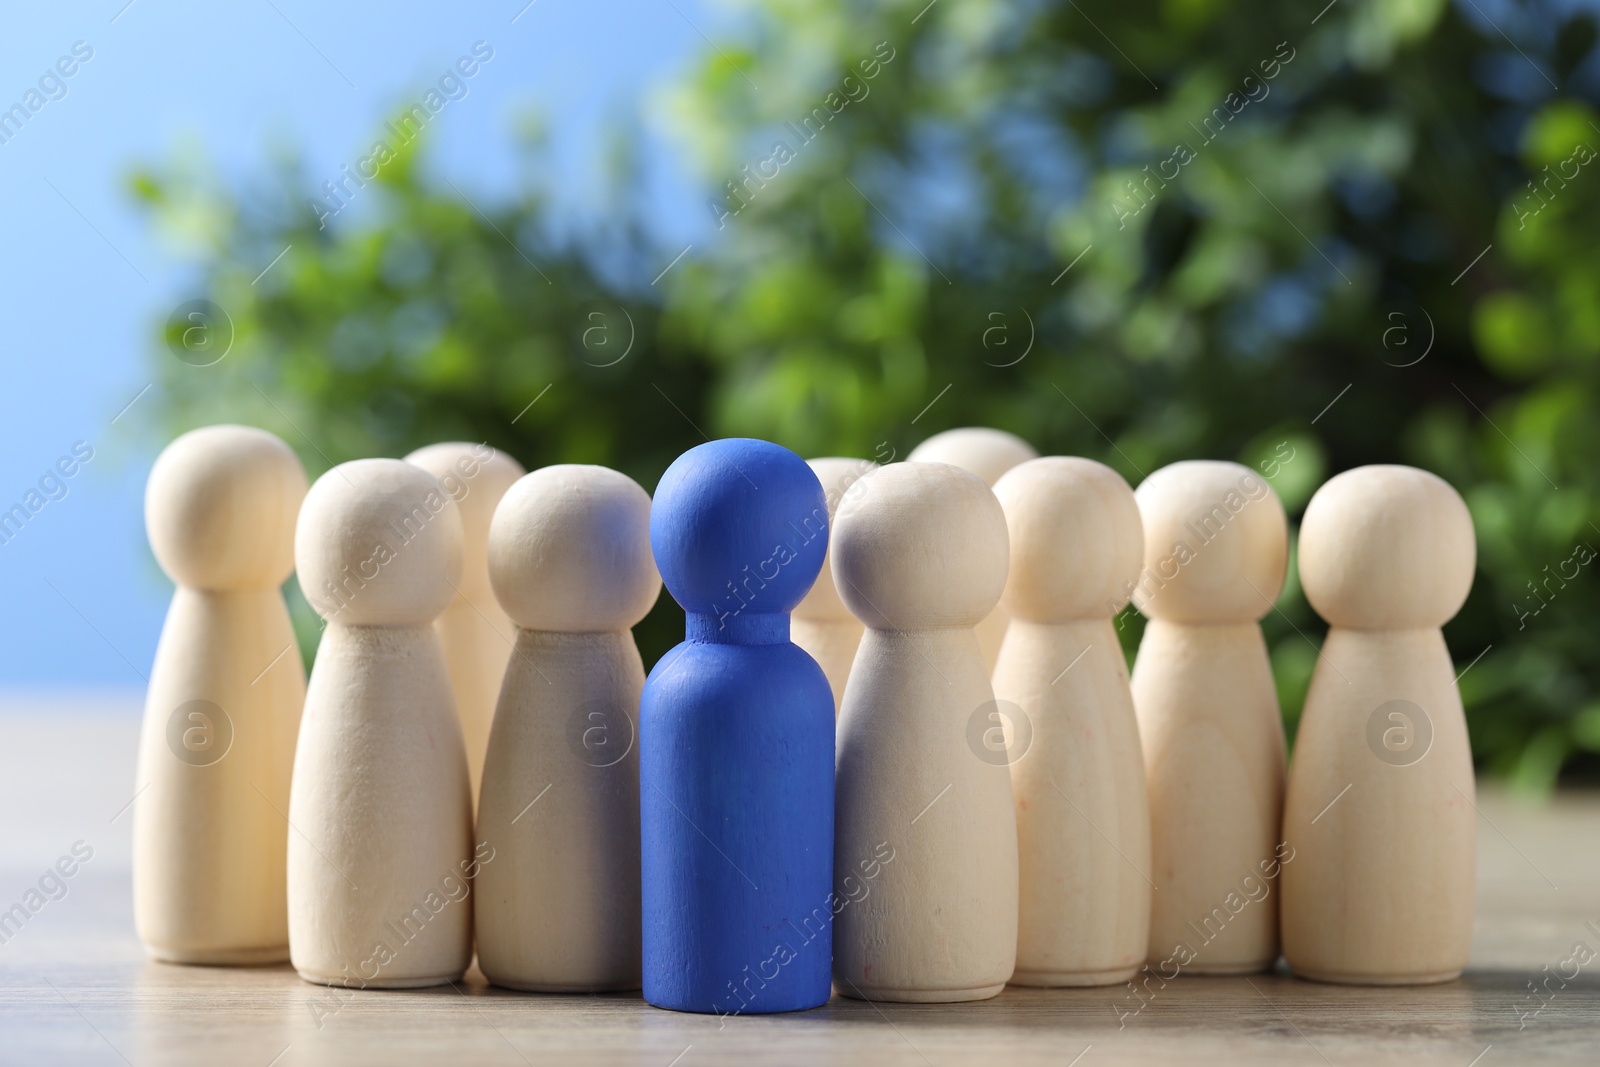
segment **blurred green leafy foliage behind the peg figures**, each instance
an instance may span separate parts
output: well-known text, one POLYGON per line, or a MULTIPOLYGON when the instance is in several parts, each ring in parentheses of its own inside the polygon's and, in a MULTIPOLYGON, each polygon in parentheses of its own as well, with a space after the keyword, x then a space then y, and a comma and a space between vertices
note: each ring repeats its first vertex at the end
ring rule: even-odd
MULTIPOLYGON (((211 368, 160 346, 170 429, 266 426, 314 474, 486 440, 651 488, 704 435, 886 458, 987 424, 1134 485, 1238 459, 1293 517, 1330 474, 1411 462, 1477 523, 1445 633, 1480 766, 1592 777, 1595 18, 925 5, 747 3, 662 98, 712 237, 659 283, 675 250, 638 218, 626 136, 621 222, 565 242, 536 182, 474 205, 416 146, 326 229, 291 163, 248 195, 184 160, 139 174, 237 330, 211 368)), ((680 617, 662 597, 646 662, 680 617)), ((1264 627, 1293 733, 1325 629, 1293 563, 1264 627)), ((1130 649, 1139 630, 1130 611, 1130 649)))

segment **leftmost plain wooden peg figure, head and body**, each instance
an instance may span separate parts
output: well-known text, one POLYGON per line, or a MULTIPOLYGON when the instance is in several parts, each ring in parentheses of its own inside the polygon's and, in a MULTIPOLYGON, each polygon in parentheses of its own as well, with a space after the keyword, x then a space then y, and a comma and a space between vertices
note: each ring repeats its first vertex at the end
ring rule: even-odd
POLYGON ((178 582, 150 669, 133 809, 134 925, 170 963, 288 958, 290 769, 306 670, 278 585, 306 472, 213 426, 150 470, 150 547, 178 582))

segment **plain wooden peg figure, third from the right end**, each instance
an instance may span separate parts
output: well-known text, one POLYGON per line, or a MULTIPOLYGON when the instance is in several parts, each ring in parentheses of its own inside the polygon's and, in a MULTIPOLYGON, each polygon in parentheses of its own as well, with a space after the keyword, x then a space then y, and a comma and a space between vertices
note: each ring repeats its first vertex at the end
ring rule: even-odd
POLYGON ((1112 616, 1144 558, 1133 490, 1091 459, 1048 458, 995 485, 1011 613, 994 689, 1010 723, 1019 907, 1016 985, 1109 985, 1150 937, 1150 806, 1112 616))

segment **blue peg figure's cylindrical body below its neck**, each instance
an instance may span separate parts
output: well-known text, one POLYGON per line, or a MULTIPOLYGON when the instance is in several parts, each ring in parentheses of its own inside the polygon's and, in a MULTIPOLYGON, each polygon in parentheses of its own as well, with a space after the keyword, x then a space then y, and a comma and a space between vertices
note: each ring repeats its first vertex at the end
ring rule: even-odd
POLYGON ((834 697, 822 669, 787 640, 678 645, 645 683, 638 757, 645 1000, 722 1016, 827 1003, 834 697))

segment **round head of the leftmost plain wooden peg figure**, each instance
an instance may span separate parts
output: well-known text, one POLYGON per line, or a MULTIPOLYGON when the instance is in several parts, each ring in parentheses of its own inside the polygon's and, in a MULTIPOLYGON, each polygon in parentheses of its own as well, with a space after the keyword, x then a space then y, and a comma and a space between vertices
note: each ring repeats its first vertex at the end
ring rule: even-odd
POLYGON ((168 445, 144 490, 157 561, 190 589, 274 589, 294 569, 306 469, 251 426, 208 426, 168 445))

